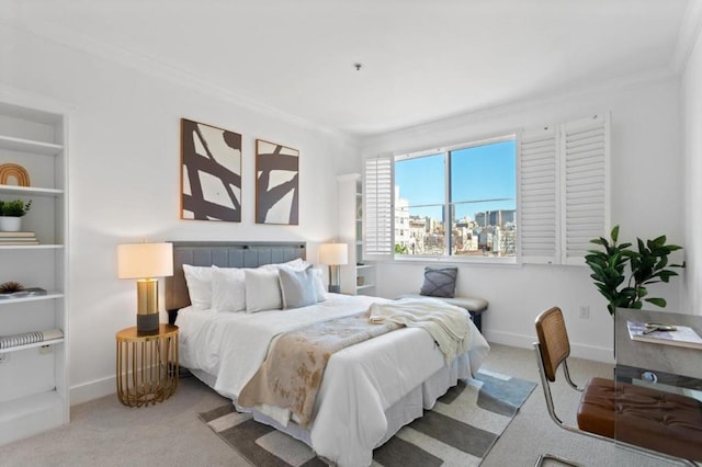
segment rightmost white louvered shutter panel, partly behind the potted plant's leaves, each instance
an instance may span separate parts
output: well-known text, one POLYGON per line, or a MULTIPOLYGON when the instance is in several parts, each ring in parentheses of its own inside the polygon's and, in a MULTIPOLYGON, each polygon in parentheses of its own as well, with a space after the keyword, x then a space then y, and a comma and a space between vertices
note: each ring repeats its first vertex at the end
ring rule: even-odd
POLYGON ((585 264, 590 239, 607 235, 609 152, 609 114, 562 125, 562 264, 585 264))

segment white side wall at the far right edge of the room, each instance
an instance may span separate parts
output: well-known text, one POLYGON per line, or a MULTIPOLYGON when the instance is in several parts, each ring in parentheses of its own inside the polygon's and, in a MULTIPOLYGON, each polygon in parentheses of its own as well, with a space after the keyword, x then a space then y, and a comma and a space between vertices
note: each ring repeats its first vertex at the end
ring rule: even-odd
POLYGON ((698 35, 682 76, 686 155, 687 307, 702 315, 702 34, 698 35))

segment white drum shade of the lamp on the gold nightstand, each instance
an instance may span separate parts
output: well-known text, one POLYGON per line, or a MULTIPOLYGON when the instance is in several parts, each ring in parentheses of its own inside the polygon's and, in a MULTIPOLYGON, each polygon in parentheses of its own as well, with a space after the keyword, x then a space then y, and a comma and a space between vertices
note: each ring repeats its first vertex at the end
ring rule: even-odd
POLYGON ((117 246, 117 277, 145 278, 173 275, 173 243, 117 246))

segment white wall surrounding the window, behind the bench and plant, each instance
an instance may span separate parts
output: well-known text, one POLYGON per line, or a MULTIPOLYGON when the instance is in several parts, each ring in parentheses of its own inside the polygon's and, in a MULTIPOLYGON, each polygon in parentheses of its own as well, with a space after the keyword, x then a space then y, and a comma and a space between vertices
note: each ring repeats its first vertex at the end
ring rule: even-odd
MULTIPOLYGON (((666 234, 670 242, 682 246, 683 158, 679 80, 673 77, 610 83, 399 130, 367 139, 362 151, 373 156, 428 149, 607 111, 612 114, 611 219, 612 225, 621 225, 620 240, 666 234)), ((424 265, 381 264, 380 295, 417 292, 424 265)), ((665 288, 652 287, 650 292, 668 299, 668 310, 679 310, 681 285, 682 281, 675 281, 665 288)), ((566 317, 574 354, 612 358, 612 320, 586 266, 460 265, 457 291, 489 300, 483 329, 491 342, 529 346, 534 340, 535 316, 558 305, 566 317), (590 319, 578 318, 580 305, 590 307, 590 319)))

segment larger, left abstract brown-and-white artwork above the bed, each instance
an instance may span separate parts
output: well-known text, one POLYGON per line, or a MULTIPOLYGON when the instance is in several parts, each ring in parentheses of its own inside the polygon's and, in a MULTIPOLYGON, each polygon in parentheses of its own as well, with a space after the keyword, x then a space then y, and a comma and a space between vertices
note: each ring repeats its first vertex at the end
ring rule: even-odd
POLYGON ((241 221, 241 135, 181 118, 180 217, 241 221))

